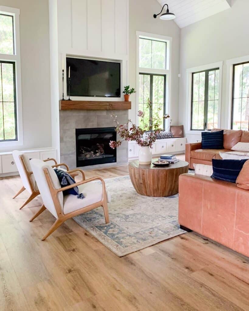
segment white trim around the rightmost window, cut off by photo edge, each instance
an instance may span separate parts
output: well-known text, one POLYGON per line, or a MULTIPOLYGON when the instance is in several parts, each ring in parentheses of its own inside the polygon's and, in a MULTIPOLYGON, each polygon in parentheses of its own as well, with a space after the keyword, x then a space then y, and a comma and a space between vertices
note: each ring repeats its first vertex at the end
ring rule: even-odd
POLYGON ((233 65, 249 62, 249 55, 231 58, 226 61, 227 65, 227 94, 226 103, 228 103, 228 109, 226 109, 226 122, 225 128, 232 128, 232 97, 233 97, 233 65))

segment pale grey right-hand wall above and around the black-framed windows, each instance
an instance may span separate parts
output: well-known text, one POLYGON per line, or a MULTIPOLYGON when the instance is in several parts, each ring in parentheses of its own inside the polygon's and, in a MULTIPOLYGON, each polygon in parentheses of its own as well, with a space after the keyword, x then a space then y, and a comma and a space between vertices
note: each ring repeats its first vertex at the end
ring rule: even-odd
MULTIPOLYGON (((228 128, 226 60, 249 54, 249 1, 233 0, 232 8, 181 29, 179 124, 186 129, 186 69, 223 62, 221 128, 228 128)), ((200 135, 186 135, 196 142, 200 135)))

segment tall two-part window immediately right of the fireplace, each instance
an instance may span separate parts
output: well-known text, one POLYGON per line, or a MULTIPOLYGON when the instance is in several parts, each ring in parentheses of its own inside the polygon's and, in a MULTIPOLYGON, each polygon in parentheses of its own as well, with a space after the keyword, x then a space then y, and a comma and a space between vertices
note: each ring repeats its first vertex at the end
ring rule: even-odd
MULTIPOLYGON (((139 110, 145 113, 144 124, 151 125, 153 116, 158 115, 162 129, 165 128, 166 74, 159 74, 158 70, 166 70, 166 56, 166 41, 139 38, 139 110)), ((141 118, 139 125, 143 128, 141 118)))

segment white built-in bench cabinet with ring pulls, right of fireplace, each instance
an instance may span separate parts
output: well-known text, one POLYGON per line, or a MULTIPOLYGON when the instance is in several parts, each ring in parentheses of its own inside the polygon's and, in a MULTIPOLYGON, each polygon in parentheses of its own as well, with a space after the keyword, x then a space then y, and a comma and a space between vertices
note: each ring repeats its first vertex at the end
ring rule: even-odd
MULTIPOLYGON (((185 152, 186 138, 167 138, 158 139, 154 142, 151 152, 152 155, 162 155, 169 153, 185 152)), ((140 147, 136 142, 129 142, 129 159, 137 158, 140 147)))

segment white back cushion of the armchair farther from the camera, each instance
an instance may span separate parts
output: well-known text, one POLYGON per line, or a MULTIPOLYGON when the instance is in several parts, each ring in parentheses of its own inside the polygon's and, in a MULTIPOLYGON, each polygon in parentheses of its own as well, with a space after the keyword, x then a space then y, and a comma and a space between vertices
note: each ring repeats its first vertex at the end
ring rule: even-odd
MULTIPOLYGON (((25 153, 23 153, 23 152, 21 152, 19 150, 12 151, 12 156, 13 156, 13 158, 15 160, 15 163, 16 163, 18 172, 20 174, 21 181, 23 183, 24 188, 26 190, 28 190, 29 193, 32 193, 32 190, 31 190, 31 187, 30 187, 30 184, 29 184, 29 180, 27 178, 26 172, 25 172, 25 170, 23 168, 23 165, 21 163, 21 160, 20 160, 20 156, 23 156, 23 159, 25 161, 26 167, 27 167, 28 171, 31 172, 32 169, 31 169, 31 166, 30 166, 29 157, 25 153)), ((33 174, 31 175, 31 181, 32 181, 32 184, 33 184, 33 186, 35 188, 35 177, 34 177, 33 174)))

